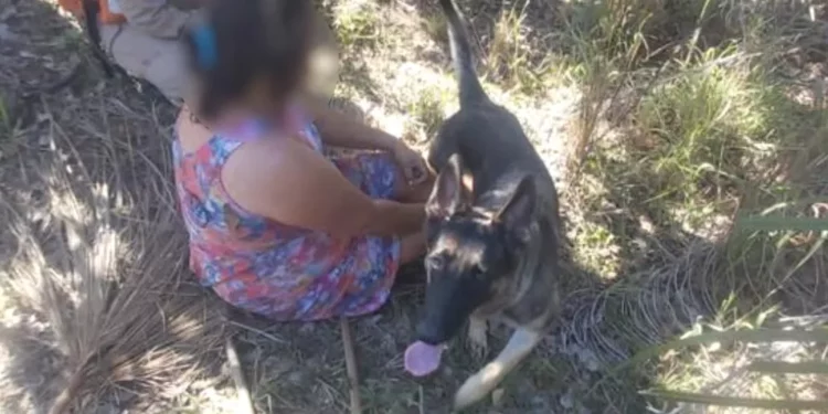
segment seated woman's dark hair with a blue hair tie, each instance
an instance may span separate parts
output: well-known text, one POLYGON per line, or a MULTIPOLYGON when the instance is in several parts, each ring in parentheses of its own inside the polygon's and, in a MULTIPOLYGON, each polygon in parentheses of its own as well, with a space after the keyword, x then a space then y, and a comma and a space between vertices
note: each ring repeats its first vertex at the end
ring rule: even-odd
POLYGON ((213 0, 204 20, 188 29, 184 44, 200 81, 200 117, 214 118, 247 92, 261 75, 274 96, 293 92, 302 79, 311 36, 312 1, 213 0))

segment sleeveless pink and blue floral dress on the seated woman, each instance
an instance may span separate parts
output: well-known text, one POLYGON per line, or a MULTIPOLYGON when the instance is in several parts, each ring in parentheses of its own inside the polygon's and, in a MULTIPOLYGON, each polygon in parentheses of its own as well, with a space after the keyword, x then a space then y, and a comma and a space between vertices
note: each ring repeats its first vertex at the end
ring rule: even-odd
MULTIPOLYGON (((312 123, 298 136, 323 156, 312 123)), ((190 267, 227 302, 279 321, 358 316, 389 298, 400 265, 396 237, 336 238, 252 214, 227 194, 222 167, 247 138, 217 134, 195 151, 173 142, 176 184, 190 235, 190 267)), ((385 153, 329 157, 372 198, 392 197, 397 170, 385 153)))

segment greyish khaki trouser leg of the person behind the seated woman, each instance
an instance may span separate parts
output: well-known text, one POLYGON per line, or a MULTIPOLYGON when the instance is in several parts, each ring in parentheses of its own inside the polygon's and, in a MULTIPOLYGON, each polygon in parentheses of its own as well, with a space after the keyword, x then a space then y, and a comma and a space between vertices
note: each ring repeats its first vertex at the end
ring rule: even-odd
POLYGON ((156 86, 171 103, 180 106, 189 87, 181 44, 152 38, 129 23, 100 26, 103 50, 127 73, 156 86))

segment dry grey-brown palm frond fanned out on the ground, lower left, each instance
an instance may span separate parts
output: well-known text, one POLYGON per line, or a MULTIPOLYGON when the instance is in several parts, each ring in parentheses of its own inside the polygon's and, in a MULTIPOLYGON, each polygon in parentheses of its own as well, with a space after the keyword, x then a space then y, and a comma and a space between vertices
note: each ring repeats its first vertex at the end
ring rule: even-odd
POLYGON ((97 185, 97 205, 84 205, 61 185, 70 179, 55 167, 44 173, 54 222, 38 237, 22 216, 12 219, 20 253, 4 275, 21 305, 49 326, 63 359, 60 371, 68 374, 50 412, 64 413, 78 401, 82 411, 97 406, 100 392, 115 384, 162 393, 185 383, 222 343, 223 323, 203 293, 184 296, 179 288, 185 256, 171 225, 177 220, 145 212, 167 229, 117 230, 106 205, 113 194, 97 185), (46 245, 54 251, 44 252, 46 245))

